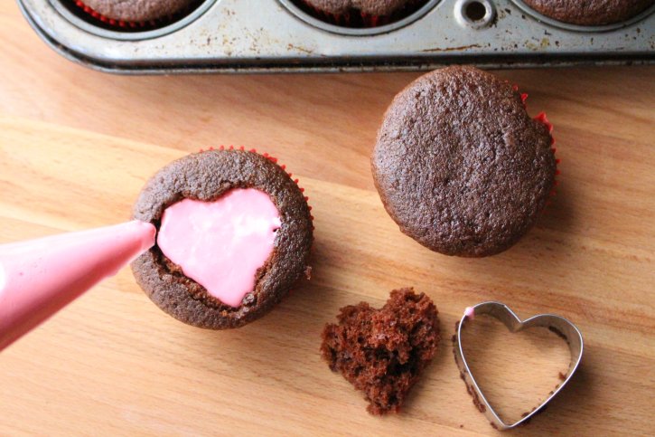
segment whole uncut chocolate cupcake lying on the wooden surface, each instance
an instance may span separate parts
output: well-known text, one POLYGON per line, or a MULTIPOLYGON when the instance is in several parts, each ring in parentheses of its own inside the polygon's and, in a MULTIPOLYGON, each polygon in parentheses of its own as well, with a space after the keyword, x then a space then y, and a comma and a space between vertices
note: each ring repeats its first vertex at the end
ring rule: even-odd
POLYGON ((428 73, 387 109, 373 179, 400 230, 446 255, 503 252, 544 211, 556 176, 552 126, 506 81, 470 67, 428 73))

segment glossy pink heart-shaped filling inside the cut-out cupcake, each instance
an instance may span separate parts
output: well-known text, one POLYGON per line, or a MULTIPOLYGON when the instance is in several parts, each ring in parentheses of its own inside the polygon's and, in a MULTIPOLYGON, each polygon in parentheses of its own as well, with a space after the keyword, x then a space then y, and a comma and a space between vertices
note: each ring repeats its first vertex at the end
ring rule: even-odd
POLYGON ((214 202, 184 199, 166 208, 157 243, 186 276, 232 308, 255 290, 281 225, 270 197, 254 188, 229 190, 214 202))

